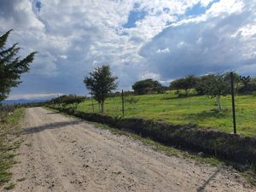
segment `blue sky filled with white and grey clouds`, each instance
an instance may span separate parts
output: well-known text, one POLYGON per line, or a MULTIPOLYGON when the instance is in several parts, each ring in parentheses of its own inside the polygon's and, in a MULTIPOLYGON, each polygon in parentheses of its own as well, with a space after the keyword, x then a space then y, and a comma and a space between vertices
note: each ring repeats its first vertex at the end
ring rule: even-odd
POLYGON ((255 0, 0 0, 0 34, 38 51, 10 99, 88 95, 108 64, 119 90, 139 79, 236 70, 256 75, 255 0))

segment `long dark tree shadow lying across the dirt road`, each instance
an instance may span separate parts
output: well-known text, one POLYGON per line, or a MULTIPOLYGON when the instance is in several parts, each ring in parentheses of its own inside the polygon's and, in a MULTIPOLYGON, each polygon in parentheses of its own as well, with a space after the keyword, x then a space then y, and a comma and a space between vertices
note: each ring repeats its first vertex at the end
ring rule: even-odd
POLYGON ((32 134, 32 133, 37 133, 44 130, 67 128, 67 126, 69 125, 79 125, 81 122, 82 122, 81 120, 73 120, 73 121, 55 122, 55 123, 50 123, 46 125, 27 127, 24 131, 24 134, 32 134))

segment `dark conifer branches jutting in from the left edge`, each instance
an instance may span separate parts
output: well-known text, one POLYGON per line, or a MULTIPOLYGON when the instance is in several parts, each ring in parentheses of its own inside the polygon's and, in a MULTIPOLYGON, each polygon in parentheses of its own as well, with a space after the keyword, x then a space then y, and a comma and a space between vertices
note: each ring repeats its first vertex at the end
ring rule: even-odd
POLYGON ((11 31, 5 32, 0 37, 0 102, 8 97, 12 87, 21 83, 19 80, 21 74, 29 71, 29 65, 36 54, 36 52, 32 52, 25 58, 20 59, 18 44, 13 44, 7 48, 6 43, 11 31))

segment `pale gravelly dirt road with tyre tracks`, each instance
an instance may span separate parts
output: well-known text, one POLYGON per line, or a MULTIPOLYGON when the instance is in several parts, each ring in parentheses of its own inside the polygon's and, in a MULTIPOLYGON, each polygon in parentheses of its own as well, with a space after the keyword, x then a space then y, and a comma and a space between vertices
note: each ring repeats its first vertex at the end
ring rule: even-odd
POLYGON ((168 157, 44 108, 26 109, 22 137, 12 191, 255 191, 230 169, 168 157))

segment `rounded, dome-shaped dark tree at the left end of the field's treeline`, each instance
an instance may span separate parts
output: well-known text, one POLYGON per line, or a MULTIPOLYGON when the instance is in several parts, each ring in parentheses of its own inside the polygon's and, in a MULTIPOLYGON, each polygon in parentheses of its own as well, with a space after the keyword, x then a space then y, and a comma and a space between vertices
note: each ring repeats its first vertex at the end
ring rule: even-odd
POLYGON ((132 85, 132 90, 138 95, 143 95, 151 92, 162 93, 163 86, 153 79, 144 79, 137 81, 132 85))

